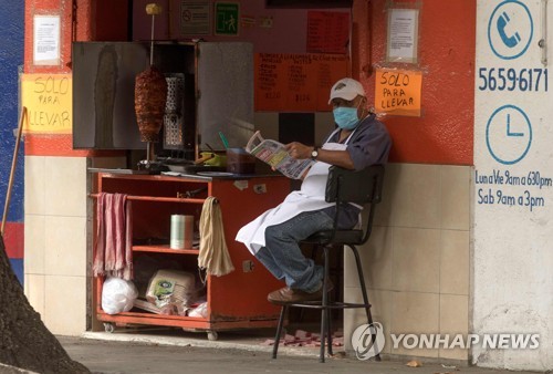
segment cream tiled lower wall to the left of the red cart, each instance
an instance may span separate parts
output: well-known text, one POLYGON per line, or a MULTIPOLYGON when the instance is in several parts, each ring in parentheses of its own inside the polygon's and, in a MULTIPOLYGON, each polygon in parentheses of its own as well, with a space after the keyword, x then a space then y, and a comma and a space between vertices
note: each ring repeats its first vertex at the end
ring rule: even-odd
POLYGON ((54 334, 86 329, 86 158, 25 156, 25 295, 54 334))

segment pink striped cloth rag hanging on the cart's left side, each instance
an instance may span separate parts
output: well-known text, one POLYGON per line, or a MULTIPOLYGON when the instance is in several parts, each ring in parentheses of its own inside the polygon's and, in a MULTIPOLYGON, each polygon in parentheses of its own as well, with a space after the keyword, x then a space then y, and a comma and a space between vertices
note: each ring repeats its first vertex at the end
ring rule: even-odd
POLYGON ((98 195, 93 273, 133 279, 132 204, 124 194, 98 195))

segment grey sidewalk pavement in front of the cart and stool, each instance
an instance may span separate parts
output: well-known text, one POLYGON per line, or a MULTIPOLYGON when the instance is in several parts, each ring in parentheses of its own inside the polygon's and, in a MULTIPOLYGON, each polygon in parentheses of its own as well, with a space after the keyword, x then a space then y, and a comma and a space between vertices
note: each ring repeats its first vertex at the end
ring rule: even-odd
MULTIPOLYGON (((93 373, 103 374, 229 374, 232 373, 371 373, 371 374, 500 374, 530 373, 465 367, 420 360, 421 367, 408 367, 405 361, 359 361, 351 355, 319 362, 319 347, 280 346, 279 357, 271 359, 272 346, 262 343, 272 332, 252 336, 244 333, 219 333, 209 341, 205 333, 152 329, 123 329, 114 333, 90 332, 82 337, 58 336, 70 356, 93 373)), ((334 347, 334 353, 343 347, 334 347)))

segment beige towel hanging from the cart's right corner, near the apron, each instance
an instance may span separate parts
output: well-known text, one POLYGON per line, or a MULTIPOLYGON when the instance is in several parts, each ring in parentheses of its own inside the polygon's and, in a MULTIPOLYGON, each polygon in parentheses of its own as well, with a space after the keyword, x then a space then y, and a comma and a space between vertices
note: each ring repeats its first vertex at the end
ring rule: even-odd
POLYGON ((211 276, 226 276, 234 270, 225 241, 221 207, 215 197, 204 201, 200 216, 198 267, 211 276))

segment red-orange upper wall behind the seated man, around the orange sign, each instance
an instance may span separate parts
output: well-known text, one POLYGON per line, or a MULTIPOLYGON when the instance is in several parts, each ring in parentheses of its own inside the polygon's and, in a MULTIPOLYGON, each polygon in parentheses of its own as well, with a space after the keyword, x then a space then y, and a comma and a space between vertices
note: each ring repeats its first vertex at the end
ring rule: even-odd
MULTIPOLYGON (((385 3, 354 1, 353 71, 369 96, 375 87, 373 70, 384 65, 385 3)), ((422 115, 383 118, 394 139, 390 160, 472 165, 476 0, 422 0, 421 7, 422 115)))

